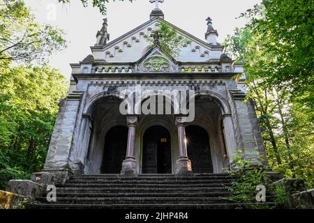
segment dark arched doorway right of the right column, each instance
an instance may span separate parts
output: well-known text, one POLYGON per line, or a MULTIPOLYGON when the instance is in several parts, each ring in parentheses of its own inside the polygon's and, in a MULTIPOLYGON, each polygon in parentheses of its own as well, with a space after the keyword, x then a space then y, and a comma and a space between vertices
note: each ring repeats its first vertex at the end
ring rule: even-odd
POLYGON ((190 125, 186 128, 186 140, 193 173, 213 173, 207 132, 199 126, 190 125))

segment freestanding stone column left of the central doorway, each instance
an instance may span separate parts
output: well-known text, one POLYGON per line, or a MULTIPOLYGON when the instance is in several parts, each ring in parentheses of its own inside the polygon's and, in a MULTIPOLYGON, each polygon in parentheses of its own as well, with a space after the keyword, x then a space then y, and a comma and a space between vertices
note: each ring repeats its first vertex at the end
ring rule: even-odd
POLYGON ((126 148, 126 159, 122 163, 121 175, 137 175, 137 161, 135 159, 135 136, 138 116, 126 116, 128 123, 128 145, 126 148))

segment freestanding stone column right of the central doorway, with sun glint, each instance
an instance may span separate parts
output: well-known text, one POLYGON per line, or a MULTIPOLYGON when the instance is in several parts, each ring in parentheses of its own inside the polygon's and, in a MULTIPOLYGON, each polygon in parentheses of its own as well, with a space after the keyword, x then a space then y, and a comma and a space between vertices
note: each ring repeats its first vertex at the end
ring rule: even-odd
POLYGON ((190 160, 188 160, 188 151, 186 149, 186 129, 184 126, 184 120, 185 118, 182 116, 175 117, 179 139, 179 157, 176 161, 177 175, 192 174, 192 165, 190 160))

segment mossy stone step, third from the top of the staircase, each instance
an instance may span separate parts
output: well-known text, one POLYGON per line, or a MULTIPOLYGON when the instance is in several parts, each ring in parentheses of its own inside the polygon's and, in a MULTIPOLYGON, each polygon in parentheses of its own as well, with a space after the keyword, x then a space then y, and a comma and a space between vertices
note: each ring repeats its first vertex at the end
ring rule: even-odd
POLYGON ((57 185, 57 187, 128 187, 128 188, 134 188, 134 187, 176 187, 176 188, 186 188, 186 187, 227 187, 232 186, 231 183, 172 183, 172 184, 165 184, 165 183, 66 183, 65 185, 57 185))

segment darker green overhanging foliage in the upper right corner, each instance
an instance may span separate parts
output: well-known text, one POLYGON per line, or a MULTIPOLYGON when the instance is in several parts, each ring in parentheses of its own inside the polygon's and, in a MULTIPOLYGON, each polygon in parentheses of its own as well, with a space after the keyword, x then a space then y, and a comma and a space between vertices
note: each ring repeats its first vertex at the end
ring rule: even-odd
POLYGON ((314 1, 264 0, 243 16, 273 58, 260 77, 292 91, 314 118, 314 1))

